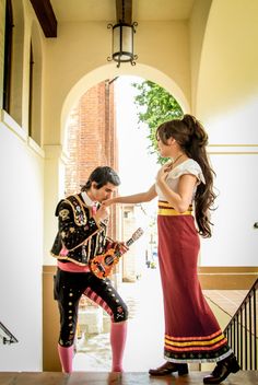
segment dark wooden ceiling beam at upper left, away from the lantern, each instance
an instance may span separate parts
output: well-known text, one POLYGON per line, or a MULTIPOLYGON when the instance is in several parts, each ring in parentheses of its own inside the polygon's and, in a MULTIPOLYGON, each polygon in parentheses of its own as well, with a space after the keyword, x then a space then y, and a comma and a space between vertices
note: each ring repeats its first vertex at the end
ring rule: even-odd
POLYGON ((31 0, 46 37, 57 37, 57 19, 50 0, 31 0))

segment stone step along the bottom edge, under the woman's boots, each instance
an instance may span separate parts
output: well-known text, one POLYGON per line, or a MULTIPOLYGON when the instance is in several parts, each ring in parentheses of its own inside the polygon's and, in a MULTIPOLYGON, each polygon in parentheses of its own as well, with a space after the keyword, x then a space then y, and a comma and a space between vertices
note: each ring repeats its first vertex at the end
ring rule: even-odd
MULTIPOLYGON (((148 373, 74 372, 0 372, 0 385, 201 385, 209 373, 191 372, 187 376, 150 377, 148 373)), ((258 384, 257 371, 239 371, 231 374, 223 384, 258 384)))

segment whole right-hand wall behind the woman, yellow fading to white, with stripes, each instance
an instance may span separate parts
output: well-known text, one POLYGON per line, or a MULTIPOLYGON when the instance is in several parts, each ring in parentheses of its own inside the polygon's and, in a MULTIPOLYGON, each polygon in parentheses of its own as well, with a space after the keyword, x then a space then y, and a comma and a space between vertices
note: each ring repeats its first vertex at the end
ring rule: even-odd
POLYGON ((213 236, 202 242, 204 266, 257 266, 257 1, 212 1, 195 103, 220 191, 213 236))

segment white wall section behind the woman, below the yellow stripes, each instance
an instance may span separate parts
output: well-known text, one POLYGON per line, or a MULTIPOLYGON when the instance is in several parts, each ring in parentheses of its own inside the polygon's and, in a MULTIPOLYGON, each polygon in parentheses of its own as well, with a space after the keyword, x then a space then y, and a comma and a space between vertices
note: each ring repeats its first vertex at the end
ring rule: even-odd
POLYGON ((202 241, 201 266, 257 266, 257 154, 211 155, 218 194, 213 235, 202 241))

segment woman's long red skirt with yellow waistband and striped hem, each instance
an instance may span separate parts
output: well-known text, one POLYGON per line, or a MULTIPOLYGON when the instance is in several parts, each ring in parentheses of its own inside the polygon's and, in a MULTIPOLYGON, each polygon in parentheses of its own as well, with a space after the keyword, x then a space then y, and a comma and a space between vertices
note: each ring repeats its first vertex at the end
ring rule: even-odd
POLYGON ((165 359, 176 363, 211 362, 232 353, 200 288, 200 249, 195 219, 159 202, 159 261, 165 315, 165 359))

